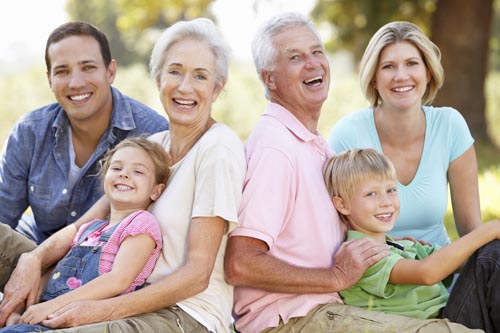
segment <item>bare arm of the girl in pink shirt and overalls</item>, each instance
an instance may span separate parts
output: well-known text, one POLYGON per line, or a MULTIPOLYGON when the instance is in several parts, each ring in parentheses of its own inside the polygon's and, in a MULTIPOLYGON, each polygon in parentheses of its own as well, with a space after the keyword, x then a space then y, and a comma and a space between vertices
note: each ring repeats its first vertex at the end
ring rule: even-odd
POLYGON ((110 298, 121 294, 143 270, 155 247, 155 240, 148 234, 128 236, 121 243, 110 272, 53 300, 29 307, 21 317, 21 321, 26 324, 38 324, 47 319, 49 314, 69 303, 110 298))

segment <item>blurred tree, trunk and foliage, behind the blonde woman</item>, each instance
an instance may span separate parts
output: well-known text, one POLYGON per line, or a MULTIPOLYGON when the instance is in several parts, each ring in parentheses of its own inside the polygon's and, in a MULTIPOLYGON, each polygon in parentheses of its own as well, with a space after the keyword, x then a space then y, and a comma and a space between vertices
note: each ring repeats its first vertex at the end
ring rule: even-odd
MULTIPOLYGON (((356 62, 371 36, 385 23, 405 20, 419 25, 443 54, 446 81, 436 105, 457 108, 473 136, 491 143, 484 83, 489 45, 500 49, 500 37, 491 34, 493 1, 498 17, 500 0, 318 0, 311 16, 329 24, 332 38, 326 42, 327 48, 351 50, 356 62)), ((498 33, 500 28, 495 27, 498 33)), ((500 62, 499 57, 496 54, 494 60, 500 62)))

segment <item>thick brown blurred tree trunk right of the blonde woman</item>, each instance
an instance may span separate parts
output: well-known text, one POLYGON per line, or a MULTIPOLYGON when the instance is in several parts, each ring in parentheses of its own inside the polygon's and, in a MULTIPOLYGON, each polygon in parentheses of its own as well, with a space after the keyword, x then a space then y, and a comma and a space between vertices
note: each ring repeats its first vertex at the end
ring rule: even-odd
POLYGON ((446 80, 435 103, 457 108, 478 141, 491 143, 486 123, 485 80, 493 0, 439 0, 432 40, 441 49, 446 80))

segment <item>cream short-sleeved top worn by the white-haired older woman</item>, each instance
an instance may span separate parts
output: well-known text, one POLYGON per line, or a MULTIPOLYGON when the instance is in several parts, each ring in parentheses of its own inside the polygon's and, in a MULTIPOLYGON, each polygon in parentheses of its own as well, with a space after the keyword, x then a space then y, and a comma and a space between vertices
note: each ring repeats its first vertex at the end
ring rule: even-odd
MULTIPOLYGON (((151 141, 166 149, 170 132, 151 141)), ((233 287, 224 280, 227 233, 238 223, 246 162, 243 145, 227 126, 216 123, 186 156, 170 168, 167 188, 150 208, 158 218, 163 249, 148 282, 155 282, 184 264, 193 217, 219 216, 228 221, 208 288, 177 305, 212 332, 230 332, 233 287)))

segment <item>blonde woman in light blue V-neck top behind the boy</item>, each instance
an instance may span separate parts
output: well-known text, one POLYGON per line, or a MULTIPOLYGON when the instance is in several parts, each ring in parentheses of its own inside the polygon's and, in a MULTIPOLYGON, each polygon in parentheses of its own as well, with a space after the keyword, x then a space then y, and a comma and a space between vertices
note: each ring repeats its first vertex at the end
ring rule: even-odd
POLYGON ((375 148, 394 163, 401 215, 391 234, 449 243, 448 183, 459 235, 481 225, 469 128, 457 110, 428 106, 444 80, 439 48, 412 23, 388 23, 370 40, 360 78, 371 107, 335 124, 329 143, 337 153, 375 148))

